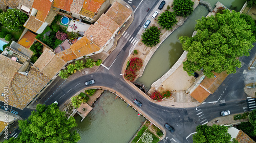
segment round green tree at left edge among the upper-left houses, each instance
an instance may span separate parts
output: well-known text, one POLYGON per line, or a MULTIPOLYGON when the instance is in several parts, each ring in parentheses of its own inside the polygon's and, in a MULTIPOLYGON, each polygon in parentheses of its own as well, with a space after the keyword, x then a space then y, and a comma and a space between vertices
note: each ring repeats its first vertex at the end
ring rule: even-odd
POLYGON ((21 31, 28 16, 17 9, 8 9, 0 14, 0 22, 4 27, 13 31, 21 31))

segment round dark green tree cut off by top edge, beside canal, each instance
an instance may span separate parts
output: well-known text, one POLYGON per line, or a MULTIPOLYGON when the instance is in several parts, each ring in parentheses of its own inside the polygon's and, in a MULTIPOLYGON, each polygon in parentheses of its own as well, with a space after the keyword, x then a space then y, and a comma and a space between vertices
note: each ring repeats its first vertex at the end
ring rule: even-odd
POLYGON ((194 2, 191 0, 174 0, 173 9, 176 15, 187 17, 193 12, 194 2))

